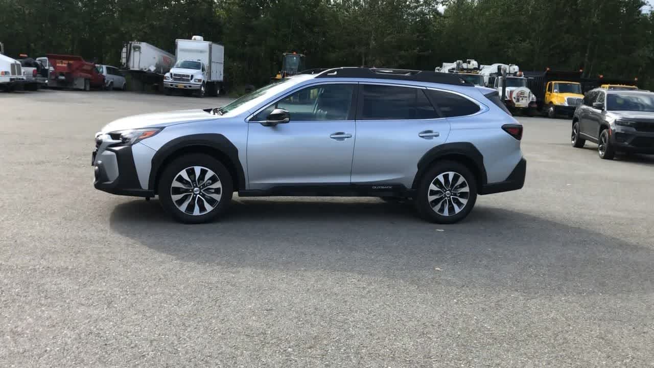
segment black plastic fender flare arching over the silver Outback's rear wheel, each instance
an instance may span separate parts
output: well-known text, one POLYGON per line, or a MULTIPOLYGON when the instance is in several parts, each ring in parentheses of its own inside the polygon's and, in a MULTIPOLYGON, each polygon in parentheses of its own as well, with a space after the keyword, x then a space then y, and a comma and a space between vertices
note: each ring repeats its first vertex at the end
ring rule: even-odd
POLYGON ((431 164, 438 158, 445 156, 464 156, 467 158, 468 162, 473 164, 476 169, 475 171, 479 174, 479 185, 486 185, 488 177, 486 175, 486 168, 484 166, 484 156, 481 155, 481 152, 469 142, 452 142, 452 143, 443 143, 437 145, 436 147, 427 151, 420 160, 418 161, 418 172, 413 178, 412 187, 417 188, 418 181, 421 175, 427 170, 431 164))

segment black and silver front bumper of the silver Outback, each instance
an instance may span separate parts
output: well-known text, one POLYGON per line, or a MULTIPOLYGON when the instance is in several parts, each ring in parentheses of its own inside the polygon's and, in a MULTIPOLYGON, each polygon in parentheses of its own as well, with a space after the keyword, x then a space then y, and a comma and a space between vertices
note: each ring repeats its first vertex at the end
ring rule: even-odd
POLYGON ((92 165, 95 189, 124 196, 154 196, 154 191, 141 188, 131 146, 107 147, 97 156, 94 153, 92 165))

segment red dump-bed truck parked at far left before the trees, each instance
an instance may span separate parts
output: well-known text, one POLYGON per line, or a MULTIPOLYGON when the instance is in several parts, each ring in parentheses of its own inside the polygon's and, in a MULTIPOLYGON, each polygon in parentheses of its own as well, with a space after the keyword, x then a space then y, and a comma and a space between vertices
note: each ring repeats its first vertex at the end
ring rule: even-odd
POLYGON ((90 90, 105 88, 105 76, 97 73, 95 64, 85 62, 82 56, 46 54, 50 66, 50 88, 90 90))

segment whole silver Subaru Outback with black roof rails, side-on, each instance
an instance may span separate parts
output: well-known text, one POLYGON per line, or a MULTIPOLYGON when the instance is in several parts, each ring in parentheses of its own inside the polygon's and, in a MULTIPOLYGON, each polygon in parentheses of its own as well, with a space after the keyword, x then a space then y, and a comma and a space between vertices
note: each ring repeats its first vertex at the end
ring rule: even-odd
POLYGON ((477 194, 521 189, 523 126, 495 90, 432 71, 343 67, 228 105, 115 120, 95 136, 95 188, 158 195, 203 223, 239 196, 378 196, 436 223, 477 194))

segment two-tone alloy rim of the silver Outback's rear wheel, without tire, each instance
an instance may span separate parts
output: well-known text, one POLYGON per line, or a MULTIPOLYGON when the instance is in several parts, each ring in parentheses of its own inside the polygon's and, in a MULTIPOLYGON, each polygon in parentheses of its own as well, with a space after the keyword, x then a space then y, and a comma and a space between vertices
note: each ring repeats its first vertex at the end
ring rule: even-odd
POLYGON ((470 198, 470 187, 463 175, 457 172, 439 174, 429 185, 427 200, 434 212, 452 216, 461 212, 470 198))

